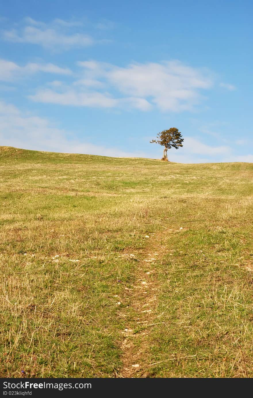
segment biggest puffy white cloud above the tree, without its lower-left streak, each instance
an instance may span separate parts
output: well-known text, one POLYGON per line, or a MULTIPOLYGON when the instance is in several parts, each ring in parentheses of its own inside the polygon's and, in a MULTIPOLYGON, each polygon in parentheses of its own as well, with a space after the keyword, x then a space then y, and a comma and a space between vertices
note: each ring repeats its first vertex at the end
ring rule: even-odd
POLYGON ((125 68, 96 61, 79 62, 79 66, 94 78, 105 78, 122 94, 150 99, 162 111, 192 109, 202 99, 199 90, 213 83, 209 72, 177 60, 133 63, 125 68))

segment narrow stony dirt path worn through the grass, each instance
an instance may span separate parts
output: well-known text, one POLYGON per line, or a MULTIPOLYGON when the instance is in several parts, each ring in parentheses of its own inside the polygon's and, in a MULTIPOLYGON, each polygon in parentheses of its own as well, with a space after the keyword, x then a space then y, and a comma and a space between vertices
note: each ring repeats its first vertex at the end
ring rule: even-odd
MULTIPOLYGON (((174 230, 166 229, 146 237, 149 242, 138 254, 135 285, 132 289, 125 288, 124 300, 131 303, 132 318, 126 320, 126 328, 122 331, 123 367, 118 377, 152 377, 149 335, 154 324, 159 322, 156 314, 159 296, 158 272, 159 264, 167 249, 161 242, 171 232, 174 230)), ((125 256, 127 255, 129 256, 129 254, 125 256)))

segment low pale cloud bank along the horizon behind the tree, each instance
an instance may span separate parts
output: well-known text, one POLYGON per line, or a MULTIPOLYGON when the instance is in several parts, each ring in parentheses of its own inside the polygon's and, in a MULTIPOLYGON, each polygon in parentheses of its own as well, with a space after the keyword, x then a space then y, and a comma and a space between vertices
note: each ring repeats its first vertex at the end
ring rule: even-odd
MULTIPOLYGON (((1 145, 18 148, 46 150, 52 152, 84 153, 120 157, 160 157, 162 148, 155 146, 146 152, 126 152, 119 148, 106 148, 83 142, 70 131, 55 127, 49 120, 20 111, 12 104, 0 101, 0 142, 1 145), (155 156, 154 156, 155 154, 155 156)), ((142 146, 142 145, 141 145, 142 146)), ((206 162, 253 162, 253 155, 233 155, 226 146, 209 146, 185 137, 180 150, 170 150, 169 160, 181 163, 206 162), (179 152, 180 151, 180 152, 179 152)))

